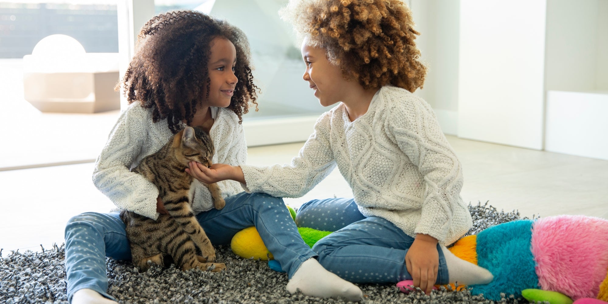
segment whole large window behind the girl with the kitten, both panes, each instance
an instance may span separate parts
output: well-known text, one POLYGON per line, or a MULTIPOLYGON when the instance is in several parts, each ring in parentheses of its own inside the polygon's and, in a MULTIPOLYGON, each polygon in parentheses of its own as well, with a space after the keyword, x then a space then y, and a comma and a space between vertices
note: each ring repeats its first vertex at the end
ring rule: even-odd
MULTIPOLYGON (((312 133, 316 117, 327 109, 319 105, 307 83, 302 80, 304 64, 299 46, 294 44, 291 26, 278 17, 278 9, 286 4, 286 0, 145 2, 0 2, 0 170, 91 162, 103 148, 109 130, 119 116, 118 107, 111 111, 97 109, 90 113, 78 113, 35 106, 35 102, 28 98, 31 90, 43 97, 44 92, 38 91, 52 90, 57 96, 49 94, 47 101, 58 102, 64 93, 69 95, 72 91, 82 91, 85 79, 81 75, 66 78, 66 75, 60 75, 52 68, 41 72, 40 65, 44 64, 28 64, 27 56, 32 54, 36 44, 46 36, 63 34, 78 41, 88 54, 119 55, 119 52, 124 52, 124 48, 121 50, 119 47, 121 36, 133 35, 130 31, 137 32, 143 25, 140 20, 148 20, 152 12, 173 9, 201 10, 225 18, 240 27, 249 38, 255 83, 262 90, 258 98, 259 111, 250 111, 244 116, 249 145, 303 141, 312 133), (129 29, 125 26, 129 20, 125 22, 125 19, 137 16, 137 5, 142 5, 141 2, 143 5, 153 5, 154 10, 140 14, 139 21, 133 25, 136 29, 129 29), (127 17, 120 19, 121 16, 127 17), (35 72, 44 74, 36 77, 46 77, 46 80, 40 80, 40 85, 24 86, 24 81, 27 83, 26 78, 32 72, 28 69, 32 66, 37 69, 35 72)), ((55 46, 63 52, 61 47, 55 46)), ((122 53, 120 56, 125 58, 122 53)), ((129 54, 126 58, 130 58, 129 54)), ((69 64, 78 66, 52 59, 35 62, 55 64, 61 67, 61 72, 66 72, 63 67, 69 64)), ((118 65, 109 63, 112 64, 118 65)), ((121 62, 120 66, 123 65, 124 62, 121 62)), ((112 75, 114 78, 106 80, 105 88, 111 89, 119 81, 119 75, 112 75)), ((62 109, 66 107, 70 108, 64 106, 62 109)))

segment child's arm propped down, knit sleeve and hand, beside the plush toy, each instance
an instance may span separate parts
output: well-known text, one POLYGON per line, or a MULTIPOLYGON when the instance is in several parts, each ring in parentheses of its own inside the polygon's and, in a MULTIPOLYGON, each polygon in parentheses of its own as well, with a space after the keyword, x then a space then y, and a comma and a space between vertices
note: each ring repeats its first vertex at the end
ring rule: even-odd
POLYGON ((458 204, 462 171, 428 103, 417 97, 398 102, 386 130, 400 150, 418 167, 426 184, 415 240, 406 254, 414 285, 430 293, 437 279, 437 243, 446 238, 452 207, 458 204))

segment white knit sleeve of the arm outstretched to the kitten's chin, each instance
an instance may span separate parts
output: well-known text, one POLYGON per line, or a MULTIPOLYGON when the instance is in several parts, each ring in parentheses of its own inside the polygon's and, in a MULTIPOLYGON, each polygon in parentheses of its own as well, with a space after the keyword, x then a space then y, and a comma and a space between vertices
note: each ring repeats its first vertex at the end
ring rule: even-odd
POLYGON ((319 184, 336 167, 330 145, 331 112, 323 114, 314 126, 291 165, 254 167, 241 165, 246 184, 245 191, 264 192, 272 196, 299 198, 319 184))

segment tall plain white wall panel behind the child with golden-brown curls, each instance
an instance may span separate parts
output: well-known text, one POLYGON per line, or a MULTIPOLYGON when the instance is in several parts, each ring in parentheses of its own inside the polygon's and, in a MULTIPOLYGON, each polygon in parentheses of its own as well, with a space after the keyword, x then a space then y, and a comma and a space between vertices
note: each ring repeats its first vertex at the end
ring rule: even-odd
POLYGON ((542 149, 545 8, 460 2, 458 136, 542 149))

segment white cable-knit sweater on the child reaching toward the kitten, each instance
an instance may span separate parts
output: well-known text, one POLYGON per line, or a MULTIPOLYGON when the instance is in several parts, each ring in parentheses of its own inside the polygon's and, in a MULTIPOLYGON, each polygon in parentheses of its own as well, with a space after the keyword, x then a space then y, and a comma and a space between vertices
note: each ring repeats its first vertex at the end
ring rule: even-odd
POLYGON ((365 216, 381 216, 407 235, 451 244, 472 226, 460 198, 462 170, 430 105, 384 86, 351 122, 343 103, 325 112, 291 165, 241 165, 247 192, 297 198, 337 165, 365 216))

